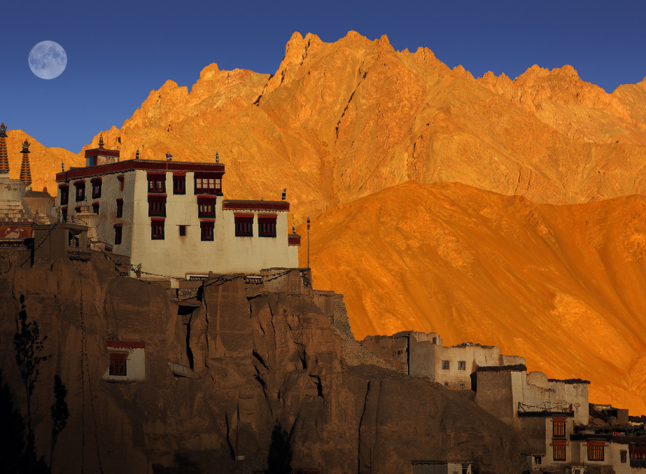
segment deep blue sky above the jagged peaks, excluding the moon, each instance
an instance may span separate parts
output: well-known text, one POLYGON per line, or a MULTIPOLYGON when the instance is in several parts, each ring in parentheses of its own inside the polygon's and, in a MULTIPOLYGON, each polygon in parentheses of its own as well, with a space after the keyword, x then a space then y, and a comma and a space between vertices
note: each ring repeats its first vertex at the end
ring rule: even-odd
POLYGON ((3 1, 0 120, 77 153, 167 79, 190 88, 211 62, 273 74, 295 31, 327 42, 351 29, 386 34, 395 49, 426 46, 476 77, 572 64, 612 92, 646 76, 645 19, 640 0, 3 1), (45 40, 68 57, 49 81, 27 64, 45 40))

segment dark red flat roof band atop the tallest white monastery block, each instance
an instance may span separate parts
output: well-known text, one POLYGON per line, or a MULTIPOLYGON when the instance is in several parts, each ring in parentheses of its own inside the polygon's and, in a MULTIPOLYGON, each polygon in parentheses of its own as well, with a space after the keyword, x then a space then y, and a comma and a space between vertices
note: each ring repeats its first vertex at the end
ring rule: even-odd
POLYGON ((69 171, 57 173, 57 183, 73 179, 89 178, 141 169, 148 172, 212 172, 225 174, 223 163, 204 163, 192 161, 166 161, 166 160, 125 160, 106 165, 71 168, 69 171))

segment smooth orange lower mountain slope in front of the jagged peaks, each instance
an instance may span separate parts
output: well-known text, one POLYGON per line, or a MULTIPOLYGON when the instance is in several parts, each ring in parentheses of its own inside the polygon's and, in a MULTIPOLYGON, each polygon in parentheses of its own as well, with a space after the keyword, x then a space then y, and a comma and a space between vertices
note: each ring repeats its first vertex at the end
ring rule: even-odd
MULTIPOLYGON (((307 231, 300 229, 300 233, 307 231)), ((300 261, 307 261, 307 242, 300 261)), ((311 266, 354 334, 495 344, 590 400, 646 413, 646 197, 534 204, 403 183, 315 218, 311 266)))

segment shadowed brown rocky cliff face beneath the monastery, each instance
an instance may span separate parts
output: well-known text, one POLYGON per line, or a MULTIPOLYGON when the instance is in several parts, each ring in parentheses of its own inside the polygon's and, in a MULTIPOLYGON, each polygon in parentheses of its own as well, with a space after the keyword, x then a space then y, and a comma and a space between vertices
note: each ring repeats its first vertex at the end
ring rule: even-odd
MULTIPOLYGON (((54 472, 152 473, 174 454, 204 470, 262 466, 279 420, 294 465, 322 473, 410 473, 412 459, 470 459, 519 472, 524 445, 470 396, 423 379, 349 368, 328 317, 308 295, 247 297, 243 279, 211 280, 183 324, 163 288, 116 277, 106 260, 57 260, 0 279, 0 360, 15 399, 24 395, 10 340, 17 299, 48 335, 34 396, 36 444, 48 452, 52 376, 69 390, 71 417, 53 454, 54 472), (87 350, 83 350, 85 340, 87 350), (146 380, 111 383, 106 340, 146 343, 146 380), (87 358, 86 358, 87 355, 87 358), (196 377, 177 377, 168 363, 196 377), (83 368, 83 372, 81 371, 83 368), (232 461, 237 406, 246 461, 232 461), (216 464, 214 464, 216 463, 216 464)), ((46 458, 48 456, 45 456, 46 458)))

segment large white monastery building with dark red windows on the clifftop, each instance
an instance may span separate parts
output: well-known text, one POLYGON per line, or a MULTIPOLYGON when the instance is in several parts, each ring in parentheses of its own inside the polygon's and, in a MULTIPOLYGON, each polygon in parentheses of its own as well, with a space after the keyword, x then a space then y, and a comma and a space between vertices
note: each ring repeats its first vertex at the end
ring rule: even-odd
POLYGON ((285 193, 281 201, 223 199, 218 155, 215 163, 138 158, 120 161, 101 137, 85 151, 85 167, 56 175, 62 220, 91 207, 97 238, 153 278, 298 267, 300 236, 288 234, 285 193))

